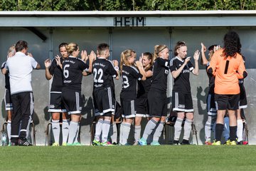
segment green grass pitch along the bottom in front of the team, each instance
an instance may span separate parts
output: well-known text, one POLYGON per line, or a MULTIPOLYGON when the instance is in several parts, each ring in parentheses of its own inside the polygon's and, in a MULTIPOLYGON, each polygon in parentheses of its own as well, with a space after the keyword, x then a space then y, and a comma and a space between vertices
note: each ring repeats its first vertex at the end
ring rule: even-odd
POLYGON ((0 147, 0 170, 256 170, 255 145, 0 147))

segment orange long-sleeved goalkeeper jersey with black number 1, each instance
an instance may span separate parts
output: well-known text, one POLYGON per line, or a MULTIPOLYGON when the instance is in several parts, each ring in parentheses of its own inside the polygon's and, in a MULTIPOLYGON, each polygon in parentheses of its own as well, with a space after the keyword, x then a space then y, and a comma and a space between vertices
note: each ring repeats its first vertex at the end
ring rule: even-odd
POLYGON ((237 53, 235 58, 225 58, 223 49, 215 51, 208 66, 208 72, 215 76, 214 93, 235 95, 240 93, 238 78, 247 76, 242 56, 237 53))

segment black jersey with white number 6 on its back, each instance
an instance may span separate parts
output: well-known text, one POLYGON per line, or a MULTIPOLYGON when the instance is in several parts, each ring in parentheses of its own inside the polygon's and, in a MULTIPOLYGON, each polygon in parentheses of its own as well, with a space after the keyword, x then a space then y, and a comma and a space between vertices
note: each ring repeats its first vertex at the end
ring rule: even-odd
POLYGON ((63 61, 63 90, 81 90, 82 71, 89 66, 80 58, 69 56, 63 61))

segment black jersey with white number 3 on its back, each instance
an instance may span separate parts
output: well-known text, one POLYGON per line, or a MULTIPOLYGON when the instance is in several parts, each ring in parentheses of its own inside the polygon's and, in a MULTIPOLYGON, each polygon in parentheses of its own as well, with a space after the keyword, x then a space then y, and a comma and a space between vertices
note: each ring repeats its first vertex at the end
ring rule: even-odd
POLYGON ((122 66, 122 91, 120 97, 129 100, 136 99, 137 80, 140 81, 142 77, 142 74, 134 66, 122 66))

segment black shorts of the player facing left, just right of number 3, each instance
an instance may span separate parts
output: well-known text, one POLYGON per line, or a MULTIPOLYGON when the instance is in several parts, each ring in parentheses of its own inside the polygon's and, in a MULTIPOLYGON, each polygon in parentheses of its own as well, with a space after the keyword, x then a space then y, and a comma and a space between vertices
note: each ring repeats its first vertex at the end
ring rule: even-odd
POLYGON ((146 97, 139 97, 135 100, 136 116, 149 117, 149 103, 146 97))

